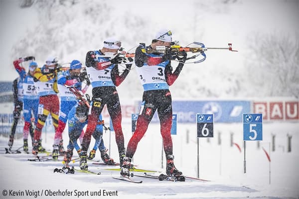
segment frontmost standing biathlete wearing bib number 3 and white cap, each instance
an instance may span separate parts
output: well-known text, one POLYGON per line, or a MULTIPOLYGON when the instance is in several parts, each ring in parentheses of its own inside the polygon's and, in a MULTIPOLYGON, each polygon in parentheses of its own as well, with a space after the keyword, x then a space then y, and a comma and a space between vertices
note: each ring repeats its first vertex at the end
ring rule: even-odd
POLYGON ((170 135, 172 123, 172 101, 168 90, 181 72, 186 60, 186 53, 183 56, 172 57, 169 51, 159 53, 156 46, 169 47, 171 42, 171 31, 159 31, 155 39, 147 47, 140 45, 136 49, 135 64, 141 84, 144 88, 143 102, 140 108, 136 131, 130 139, 126 157, 122 165, 121 175, 130 176, 131 160, 136 152, 137 145, 146 133, 149 122, 157 110, 161 126, 161 135, 163 139, 164 152, 167 159, 166 174, 181 175, 173 164, 172 140, 170 135), (171 59, 177 58, 179 64, 172 73, 171 59))

